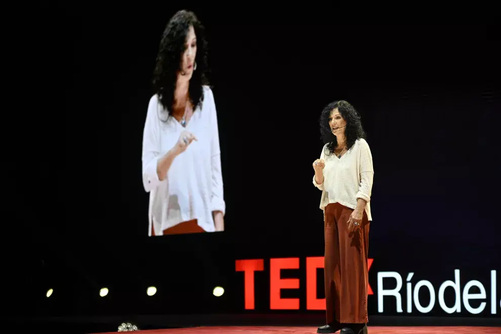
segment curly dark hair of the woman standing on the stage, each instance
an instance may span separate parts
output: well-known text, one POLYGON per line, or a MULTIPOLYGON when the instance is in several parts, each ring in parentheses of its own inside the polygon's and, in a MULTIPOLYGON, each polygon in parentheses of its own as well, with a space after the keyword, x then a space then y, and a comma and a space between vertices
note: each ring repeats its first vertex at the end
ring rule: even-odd
MULTIPOLYGON (((360 115, 358 111, 347 101, 335 101, 327 104, 320 115, 320 133, 322 135, 322 140, 327 152, 332 153, 334 149, 338 146, 338 139, 329 126, 329 118, 332 110, 338 108, 341 116, 346 120, 345 136, 346 136, 346 148, 350 150, 358 139, 366 139, 365 131, 362 127, 362 122, 360 121, 360 115)), ((327 155, 329 155, 327 154, 327 155)))

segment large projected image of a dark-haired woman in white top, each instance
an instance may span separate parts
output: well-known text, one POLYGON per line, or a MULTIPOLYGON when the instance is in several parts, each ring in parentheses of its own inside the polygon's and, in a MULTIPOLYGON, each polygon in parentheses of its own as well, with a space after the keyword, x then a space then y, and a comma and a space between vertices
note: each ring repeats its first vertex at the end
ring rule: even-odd
POLYGON ((192 12, 179 11, 160 41, 142 150, 150 236, 224 230, 218 119, 203 32, 192 12))

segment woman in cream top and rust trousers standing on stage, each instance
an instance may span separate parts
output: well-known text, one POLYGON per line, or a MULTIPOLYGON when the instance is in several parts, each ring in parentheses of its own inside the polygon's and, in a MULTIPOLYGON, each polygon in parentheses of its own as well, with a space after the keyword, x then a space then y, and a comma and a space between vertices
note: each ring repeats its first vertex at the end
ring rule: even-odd
POLYGON ((372 155, 360 116, 346 101, 320 116, 325 145, 313 162, 313 184, 322 190, 327 324, 318 333, 367 333, 367 249, 372 155))

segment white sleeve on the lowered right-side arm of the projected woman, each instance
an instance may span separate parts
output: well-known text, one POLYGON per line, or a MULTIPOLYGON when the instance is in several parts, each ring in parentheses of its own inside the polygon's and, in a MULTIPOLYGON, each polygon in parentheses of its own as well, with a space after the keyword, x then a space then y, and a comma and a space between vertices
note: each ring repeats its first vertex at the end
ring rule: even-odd
POLYGON ((223 215, 226 212, 226 203, 224 201, 223 175, 221 170, 221 148, 219 144, 218 115, 216 111, 216 102, 211 89, 207 90, 207 100, 211 103, 211 211, 221 211, 223 215))

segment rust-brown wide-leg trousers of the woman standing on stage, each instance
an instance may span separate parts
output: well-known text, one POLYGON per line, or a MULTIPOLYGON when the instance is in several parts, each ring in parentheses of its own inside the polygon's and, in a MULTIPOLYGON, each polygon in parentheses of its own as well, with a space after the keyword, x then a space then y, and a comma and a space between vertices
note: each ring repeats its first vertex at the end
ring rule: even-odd
POLYGON ((367 323, 367 249, 369 221, 348 230, 353 210, 331 203, 324 210, 325 303, 327 323, 367 323))

